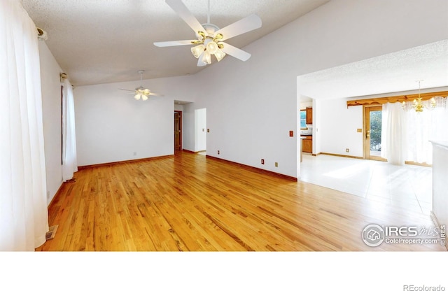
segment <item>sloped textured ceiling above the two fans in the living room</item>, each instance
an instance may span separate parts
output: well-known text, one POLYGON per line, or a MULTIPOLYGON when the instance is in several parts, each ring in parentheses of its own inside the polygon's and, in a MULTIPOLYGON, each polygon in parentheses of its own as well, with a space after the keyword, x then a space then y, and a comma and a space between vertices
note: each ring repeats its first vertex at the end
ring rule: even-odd
MULTIPOLYGON (((329 0, 210 0, 210 22, 223 28, 252 13, 262 27, 231 38, 244 48, 329 0)), ((193 30, 163 0, 22 0, 46 44, 73 85, 183 76, 197 73, 186 46, 158 48, 155 41, 194 38, 193 30)), ((207 22, 207 0, 183 0, 207 22)), ((212 66, 214 64, 211 64, 212 66)))

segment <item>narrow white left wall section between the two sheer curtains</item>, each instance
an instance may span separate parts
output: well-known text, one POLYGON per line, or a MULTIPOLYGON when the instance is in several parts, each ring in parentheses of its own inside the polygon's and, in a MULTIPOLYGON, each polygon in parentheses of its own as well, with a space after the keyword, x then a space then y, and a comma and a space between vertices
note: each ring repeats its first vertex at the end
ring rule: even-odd
POLYGON ((62 185, 62 104, 59 78, 62 69, 43 41, 39 41, 39 56, 41 61, 45 173, 47 176, 47 202, 49 204, 62 185))

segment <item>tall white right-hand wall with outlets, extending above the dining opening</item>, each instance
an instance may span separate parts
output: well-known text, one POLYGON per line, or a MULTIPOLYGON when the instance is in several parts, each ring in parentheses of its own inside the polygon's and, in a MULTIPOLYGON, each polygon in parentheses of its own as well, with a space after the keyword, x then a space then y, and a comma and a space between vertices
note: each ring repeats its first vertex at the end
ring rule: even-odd
MULTIPOLYGON (((447 25, 444 7, 443 0, 330 1, 248 45, 247 62, 225 57, 197 73, 203 91, 191 106, 207 107, 207 155, 297 177, 297 140, 288 136, 297 133, 296 76, 448 38, 440 29, 447 25)), ((352 145, 357 136, 349 143, 362 155, 352 145)), ((324 151, 324 143, 318 146, 324 151)))

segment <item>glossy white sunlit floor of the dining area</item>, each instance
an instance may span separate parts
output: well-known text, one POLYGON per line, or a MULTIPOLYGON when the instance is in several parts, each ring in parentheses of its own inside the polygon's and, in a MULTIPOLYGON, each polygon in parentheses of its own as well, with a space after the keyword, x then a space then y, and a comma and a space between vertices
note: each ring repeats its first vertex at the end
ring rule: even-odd
POLYGON ((427 166, 304 154, 299 180, 429 214, 432 173, 427 166))

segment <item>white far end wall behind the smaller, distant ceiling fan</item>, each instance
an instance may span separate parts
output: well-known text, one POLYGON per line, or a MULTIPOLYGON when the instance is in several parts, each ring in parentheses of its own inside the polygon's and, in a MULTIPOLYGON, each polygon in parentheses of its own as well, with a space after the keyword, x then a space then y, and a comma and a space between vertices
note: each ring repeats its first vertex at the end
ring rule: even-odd
POLYGON ((174 153, 174 100, 137 101, 118 90, 134 87, 139 82, 75 88, 78 166, 174 153))

